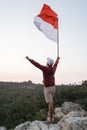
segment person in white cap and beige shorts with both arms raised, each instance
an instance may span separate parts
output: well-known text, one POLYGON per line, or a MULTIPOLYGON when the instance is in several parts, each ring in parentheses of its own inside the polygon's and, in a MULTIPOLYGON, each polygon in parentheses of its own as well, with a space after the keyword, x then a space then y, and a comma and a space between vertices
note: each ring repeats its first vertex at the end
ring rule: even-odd
POLYGON ((39 68, 43 72, 43 83, 44 83, 44 96, 46 103, 48 103, 48 122, 53 122, 53 112, 54 112, 54 103, 53 103, 53 95, 55 93, 55 71, 59 62, 59 57, 57 57, 55 63, 52 58, 47 58, 46 66, 39 64, 33 59, 30 59, 26 56, 26 59, 30 61, 34 66, 39 68))

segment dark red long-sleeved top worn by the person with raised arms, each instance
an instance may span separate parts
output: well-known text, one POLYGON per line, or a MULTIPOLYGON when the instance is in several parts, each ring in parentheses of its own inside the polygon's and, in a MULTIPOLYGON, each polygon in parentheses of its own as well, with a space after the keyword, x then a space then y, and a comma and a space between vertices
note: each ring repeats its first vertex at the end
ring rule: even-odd
POLYGON ((55 71, 58 65, 58 59, 55 61, 53 66, 44 66, 39 64, 38 62, 34 61, 33 59, 29 59, 29 61, 36 66, 37 68, 39 68, 40 70, 42 70, 43 72, 43 83, 45 87, 50 87, 50 86, 54 86, 55 85, 55 71))

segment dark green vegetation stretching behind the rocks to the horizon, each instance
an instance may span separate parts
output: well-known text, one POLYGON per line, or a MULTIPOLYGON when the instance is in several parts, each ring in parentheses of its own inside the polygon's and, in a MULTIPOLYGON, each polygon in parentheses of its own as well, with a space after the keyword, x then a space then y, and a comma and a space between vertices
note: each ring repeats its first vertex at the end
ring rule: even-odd
MULTIPOLYGON (((65 101, 81 104, 87 111, 87 81, 81 85, 57 85, 55 107, 65 101)), ((47 104, 43 85, 28 82, 0 82, 0 125, 13 129, 20 123, 45 120, 47 104)))

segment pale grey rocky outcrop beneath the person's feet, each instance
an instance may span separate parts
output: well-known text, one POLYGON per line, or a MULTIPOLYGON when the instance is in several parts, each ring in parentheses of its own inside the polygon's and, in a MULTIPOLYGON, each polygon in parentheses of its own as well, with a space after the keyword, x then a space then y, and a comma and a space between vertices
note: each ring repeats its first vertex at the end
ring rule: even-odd
POLYGON ((55 108, 55 123, 44 121, 25 122, 14 130, 87 130, 87 112, 79 104, 65 102, 55 108))

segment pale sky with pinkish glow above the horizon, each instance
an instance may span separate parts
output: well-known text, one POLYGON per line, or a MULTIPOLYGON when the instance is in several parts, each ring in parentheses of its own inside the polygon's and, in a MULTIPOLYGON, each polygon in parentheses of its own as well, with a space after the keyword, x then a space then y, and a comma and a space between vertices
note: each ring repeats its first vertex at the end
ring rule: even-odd
POLYGON ((59 18, 59 56, 56 84, 87 80, 87 0, 0 0, 0 81, 42 83, 42 72, 25 56, 46 65, 56 60, 57 44, 34 25, 48 4, 59 18))

